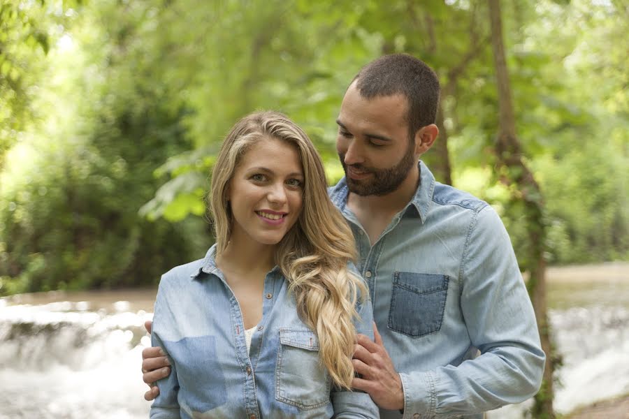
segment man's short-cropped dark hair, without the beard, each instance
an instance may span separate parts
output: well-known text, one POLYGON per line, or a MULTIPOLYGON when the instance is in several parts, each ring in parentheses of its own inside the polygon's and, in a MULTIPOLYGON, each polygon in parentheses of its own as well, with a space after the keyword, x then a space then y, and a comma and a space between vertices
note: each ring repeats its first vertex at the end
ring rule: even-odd
MULTIPOLYGON (((407 98, 409 137, 434 124, 439 103, 439 79, 432 68, 408 54, 384 55, 364 66, 354 77, 363 98, 403 94, 407 98)), ((354 82, 352 80, 352 82, 354 82)))

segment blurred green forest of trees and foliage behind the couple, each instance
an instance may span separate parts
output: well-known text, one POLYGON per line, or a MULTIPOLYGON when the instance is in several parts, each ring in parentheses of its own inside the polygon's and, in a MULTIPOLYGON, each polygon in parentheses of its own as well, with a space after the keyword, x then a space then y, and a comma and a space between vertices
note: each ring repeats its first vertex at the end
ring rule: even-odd
POLYGON ((201 258, 212 163, 252 110, 303 126, 335 183, 349 80, 406 52, 442 82, 423 159, 502 216, 551 354, 545 266, 629 260, 629 2, 499 4, 0 0, 0 296, 201 258))

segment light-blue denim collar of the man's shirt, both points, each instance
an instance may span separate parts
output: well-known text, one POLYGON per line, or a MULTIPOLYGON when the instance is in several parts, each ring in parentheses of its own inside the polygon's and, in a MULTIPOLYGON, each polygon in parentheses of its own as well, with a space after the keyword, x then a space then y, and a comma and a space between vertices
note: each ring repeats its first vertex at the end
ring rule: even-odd
MULTIPOLYGON (((414 213, 414 211, 410 211, 410 208, 412 207, 417 211, 417 214, 419 214, 419 218, 423 224, 426 222, 428 210, 433 202, 433 192, 435 191, 436 181, 433 173, 428 169, 428 166, 426 166, 423 161, 419 161, 418 166, 419 186, 417 186, 417 191, 415 191, 414 196, 404 208, 403 214, 410 215, 414 213)), ((345 211, 345 207, 347 206, 347 196, 349 196, 347 179, 342 177, 340 181, 338 181, 338 184, 329 189, 329 195, 332 203, 336 205, 341 212, 345 211)))

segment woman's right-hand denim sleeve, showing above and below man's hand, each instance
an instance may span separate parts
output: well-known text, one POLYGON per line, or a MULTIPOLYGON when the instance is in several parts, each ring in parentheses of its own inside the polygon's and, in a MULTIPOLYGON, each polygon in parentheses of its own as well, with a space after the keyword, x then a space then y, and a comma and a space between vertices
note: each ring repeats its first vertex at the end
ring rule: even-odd
MULTIPOLYGON (((351 270, 360 277, 353 266, 351 270)), ((359 302, 356 303, 356 311, 358 311, 359 314, 358 318, 354 320, 356 333, 367 335, 373 340, 373 308, 369 300, 369 295, 365 296, 363 302, 359 300, 359 302)), ((332 390, 330 397, 334 408, 334 418, 379 418, 378 407, 366 392, 359 390, 332 390)))

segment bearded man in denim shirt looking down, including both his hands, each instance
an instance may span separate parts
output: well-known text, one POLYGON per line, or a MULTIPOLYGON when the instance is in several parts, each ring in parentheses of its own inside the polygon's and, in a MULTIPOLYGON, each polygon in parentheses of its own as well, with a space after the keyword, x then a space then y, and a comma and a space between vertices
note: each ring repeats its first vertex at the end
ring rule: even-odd
MULTIPOLYGON (((356 75, 337 120, 345 178, 329 194, 352 226, 376 323, 375 341, 357 337, 353 386, 382 418, 482 418, 534 395, 544 369, 503 223, 418 164, 438 101, 430 67, 387 55, 356 75)), ((154 370, 167 365, 157 351, 143 353, 146 383, 168 375, 154 370)))

